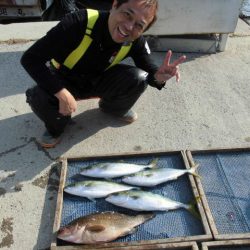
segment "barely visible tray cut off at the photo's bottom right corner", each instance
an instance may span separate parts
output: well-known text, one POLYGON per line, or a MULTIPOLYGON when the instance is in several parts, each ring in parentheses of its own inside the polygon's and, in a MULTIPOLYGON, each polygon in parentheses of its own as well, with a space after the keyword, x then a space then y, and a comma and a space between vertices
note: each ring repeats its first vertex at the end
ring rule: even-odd
POLYGON ((249 250, 249 240, 225 240, 203 242, 202 250, 249 250))

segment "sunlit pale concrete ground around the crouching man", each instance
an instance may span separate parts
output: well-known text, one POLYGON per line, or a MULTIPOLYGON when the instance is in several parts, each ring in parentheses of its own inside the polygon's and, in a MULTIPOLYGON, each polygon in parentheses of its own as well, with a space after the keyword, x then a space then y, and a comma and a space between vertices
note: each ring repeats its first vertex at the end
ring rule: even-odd
MULTIPOLYGON (((62 143, 41 149, 35 137, 43 125, 24 95, 34 82, 19 61, 53 25, 0 25, 1 249, 49 248, 60 156, 250 147, 250 28, 239 19, 225 52, 187 53, 180 84, 148 88, 134 107, 135 123, 102 114, 97 100, 81 101, 62 143)), ((153 56, 160 65, 164 54, 153 56)))

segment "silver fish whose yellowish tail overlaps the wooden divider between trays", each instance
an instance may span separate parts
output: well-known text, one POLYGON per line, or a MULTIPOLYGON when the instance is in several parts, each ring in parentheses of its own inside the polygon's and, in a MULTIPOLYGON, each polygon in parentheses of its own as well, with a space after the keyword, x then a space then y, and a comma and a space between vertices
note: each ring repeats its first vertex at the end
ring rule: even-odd
POLYGON ((152 187, 161 183, 176 180, 184 174, 192 174, 199 176, 195 171, 199 165, 195 165, 190 169, 174 169, 174 168, 157 168, 144 170, 133 175, 125 176, 122 178, 124 183, 143 187, 152 187))

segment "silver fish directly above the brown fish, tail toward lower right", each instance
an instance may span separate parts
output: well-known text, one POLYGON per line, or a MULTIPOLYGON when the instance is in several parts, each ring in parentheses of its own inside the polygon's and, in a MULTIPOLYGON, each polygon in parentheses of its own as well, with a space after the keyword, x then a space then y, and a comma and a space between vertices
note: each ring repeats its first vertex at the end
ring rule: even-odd
POLYGON ((169 211, 184 208, 195 214, 193 204, 184 204, 148 191, 123 191, 111 194, 105 200, 116 206, 135 211, 169 211))

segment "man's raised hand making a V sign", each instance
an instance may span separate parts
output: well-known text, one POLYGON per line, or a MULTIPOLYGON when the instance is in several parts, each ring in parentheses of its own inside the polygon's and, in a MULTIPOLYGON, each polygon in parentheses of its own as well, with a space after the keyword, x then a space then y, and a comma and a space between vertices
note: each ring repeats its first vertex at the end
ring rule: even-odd
POLYGON ((169 50, 167 52, 163 64, 160 66, 160 68, 154 75, 155 79, 159 83, 164 84, 167 80, 169 80, 173 76, 176 77, 177 82, 180 81, 179 64, 183 63, 186 60, 186 56, 181 56, 173 63, 170 63, 171 56, 172 56, 172 51, 169 50))

